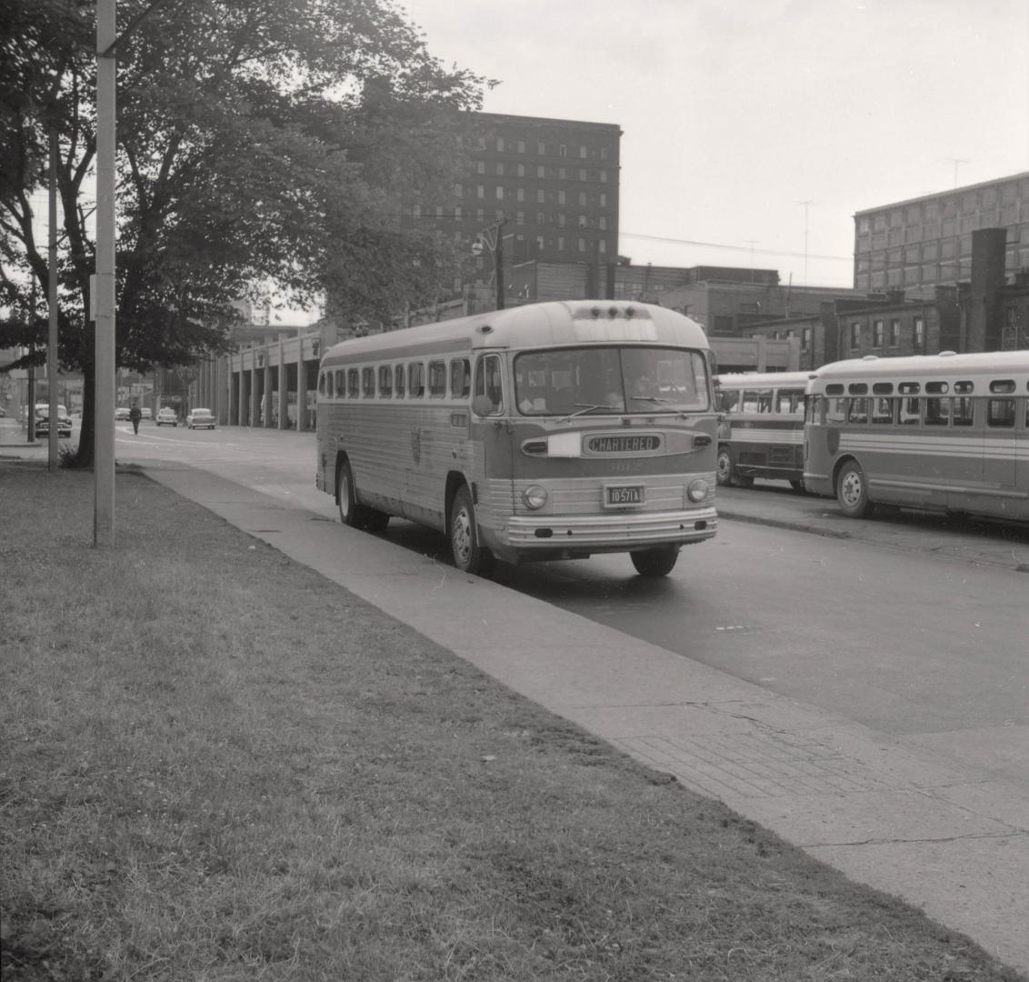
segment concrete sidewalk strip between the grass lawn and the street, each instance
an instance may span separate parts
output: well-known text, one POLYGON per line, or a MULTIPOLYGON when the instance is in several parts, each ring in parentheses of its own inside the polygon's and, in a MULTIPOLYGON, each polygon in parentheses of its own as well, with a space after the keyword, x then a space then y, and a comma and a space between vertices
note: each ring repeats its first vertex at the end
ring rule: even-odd
POLYGON ((328 510, 189 467, 146 469, 516 692, 1029 973, 1024 787, 386 538, 339 523, 326 535, 328 510))

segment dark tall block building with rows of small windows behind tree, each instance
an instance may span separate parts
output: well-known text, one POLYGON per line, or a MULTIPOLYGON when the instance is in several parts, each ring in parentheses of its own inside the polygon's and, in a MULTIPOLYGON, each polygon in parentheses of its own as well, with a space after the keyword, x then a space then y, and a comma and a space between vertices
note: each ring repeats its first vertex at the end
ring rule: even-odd
MULTIPOLYGON (((412 206, 420 227, 469 245, 484 232, 494 242, 500 235, 505 269, 527 259, 615 262, 617 125, 491 112, 467 113, 462 121, 471 173, 455 184, 450 201, 412 206)), ((493 260, 492 247, 477 256, 475 280, 493 277, 493 260)))

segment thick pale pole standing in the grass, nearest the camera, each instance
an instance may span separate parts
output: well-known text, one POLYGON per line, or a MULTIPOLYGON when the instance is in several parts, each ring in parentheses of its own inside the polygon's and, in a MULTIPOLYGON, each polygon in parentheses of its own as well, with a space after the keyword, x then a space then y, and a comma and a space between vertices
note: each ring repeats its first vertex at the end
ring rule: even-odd
POLYGON ((114 545, 115 0, 97 0, 97 323, 94 546, 114 545))

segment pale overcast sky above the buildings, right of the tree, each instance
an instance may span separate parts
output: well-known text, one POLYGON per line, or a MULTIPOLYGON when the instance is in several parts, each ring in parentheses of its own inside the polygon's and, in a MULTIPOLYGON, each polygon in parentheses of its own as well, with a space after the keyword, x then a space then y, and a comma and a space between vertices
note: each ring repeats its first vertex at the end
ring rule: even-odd
POLYGON ((622 127, 633 262, 850 286, 855 211, 1029 171, 1029 0, 400 6, 487 112, 622 127))

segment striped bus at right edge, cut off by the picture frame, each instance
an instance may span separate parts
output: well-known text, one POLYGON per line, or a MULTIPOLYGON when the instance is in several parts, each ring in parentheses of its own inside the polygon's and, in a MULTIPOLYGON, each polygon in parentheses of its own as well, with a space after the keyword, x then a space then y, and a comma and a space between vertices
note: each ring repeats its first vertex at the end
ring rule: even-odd
POLYGON ((807 397, 804 484, 846 515, 1029 521, 1029 351, 837 361, 807 397))

